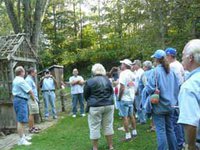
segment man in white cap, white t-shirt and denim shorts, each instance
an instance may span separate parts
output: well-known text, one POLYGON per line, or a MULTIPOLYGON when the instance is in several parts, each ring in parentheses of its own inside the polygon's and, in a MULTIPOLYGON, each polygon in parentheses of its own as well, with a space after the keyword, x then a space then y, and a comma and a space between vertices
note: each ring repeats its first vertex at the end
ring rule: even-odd
POLYGON ((123 141, 129 141, 132 137, 137 136, 136 122, 133 115, 133 102, 135 98, 135 75, 130 70, 132 62, 129 59, 120 61, 121 70, 119 76, 119 101, 120 101, 120 113, 123 117, 123 125, 125 128, 125 139, 123 141), (129 119, 132 125, 132 132, 129 131, 129 119))

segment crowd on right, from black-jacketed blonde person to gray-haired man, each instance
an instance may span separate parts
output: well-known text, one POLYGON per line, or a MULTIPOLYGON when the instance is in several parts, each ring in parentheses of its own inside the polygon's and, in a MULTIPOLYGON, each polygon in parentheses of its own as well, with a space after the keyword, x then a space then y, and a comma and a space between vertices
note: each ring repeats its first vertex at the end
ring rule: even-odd
POLYGON ((93 150, 98 149, 100 129, 114 149, 113 105, 123 118, 122 142, 139 134, 137 121, 145 124, 152 118, 150 131, 156 132, 158 150, 200 149, 200 40, 186 44, 182 64, 176 56, 176 49, 169 47, 156 50, 153 63, 144 61, 143 69, 140 60, 129 59, 107 74, 101 64, 92 67, 84 97, 93 150))

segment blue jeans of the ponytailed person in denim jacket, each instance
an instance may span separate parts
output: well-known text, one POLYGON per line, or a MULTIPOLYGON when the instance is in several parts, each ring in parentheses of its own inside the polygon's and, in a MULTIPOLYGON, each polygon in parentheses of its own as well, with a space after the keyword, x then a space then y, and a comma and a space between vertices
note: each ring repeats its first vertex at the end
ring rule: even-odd
POLYGON ((177 140, 172 123, 172 113, 153 114, 156 126, 158 150, 177 150, 177 140))

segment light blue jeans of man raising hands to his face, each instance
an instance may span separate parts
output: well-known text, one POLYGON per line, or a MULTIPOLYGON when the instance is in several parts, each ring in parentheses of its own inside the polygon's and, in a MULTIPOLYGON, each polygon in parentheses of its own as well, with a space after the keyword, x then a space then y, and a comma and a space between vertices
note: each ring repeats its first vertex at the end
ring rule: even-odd
POLYGON ((54 91, 47 91, 42 93, 44 98, 44 115, 45 117, 49 117, 49 103, 52 108, 52 114, 55 117, 56 116, 56 105, 55 105, 55 99, 56 95, 54 91))

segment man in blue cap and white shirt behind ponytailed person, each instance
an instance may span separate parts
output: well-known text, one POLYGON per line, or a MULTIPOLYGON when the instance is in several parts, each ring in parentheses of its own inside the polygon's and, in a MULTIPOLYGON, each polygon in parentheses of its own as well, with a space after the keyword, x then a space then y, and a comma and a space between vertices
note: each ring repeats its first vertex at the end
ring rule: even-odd
MULTIPOLYGON (((167 56, 166 57, 167 61, 169 62, 169 65, 170 65, 170 69, 174 71, 174 73, 176 74, 179 80, 179 86, 181 86, 181 84, 184 81, 184 69, 183 69, 182 64, 176 60, 177 51, 175 48, 168 47, 165 49, 165 53, 167 56)), ((182 149, 183 143, 184 143, 184 132, 183 132, 182 125, 177 123, 178 117, 179 117, 179 110, 177 106, 178 106, 178 103, 176 104, 176 106, 174 106, 172 121, 173 121, 173 126, 174 126, 174 132, 177 138, 178 149, 182 149)))

